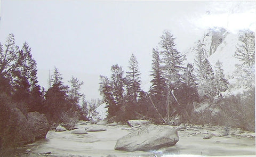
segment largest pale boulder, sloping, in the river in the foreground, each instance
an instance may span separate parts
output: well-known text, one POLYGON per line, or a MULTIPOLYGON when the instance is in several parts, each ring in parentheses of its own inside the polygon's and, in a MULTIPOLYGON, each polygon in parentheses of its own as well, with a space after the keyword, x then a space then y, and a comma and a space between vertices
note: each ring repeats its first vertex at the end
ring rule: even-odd
POLYGON ((179 141, 178 132, 171 126, 148 125, 117 140, 115 150, 150 151, 170 147, 179 141))

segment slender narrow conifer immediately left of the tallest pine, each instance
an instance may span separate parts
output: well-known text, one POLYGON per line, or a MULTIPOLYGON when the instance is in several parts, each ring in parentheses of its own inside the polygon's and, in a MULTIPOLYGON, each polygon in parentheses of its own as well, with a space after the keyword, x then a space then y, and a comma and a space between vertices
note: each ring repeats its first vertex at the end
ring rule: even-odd
POLYGON ((165 90, 165 80, 163 78, 163 67, 161 66, 161 59, 159 56, 158 48, 153 48, 153 60, 152 60, 152 71, 150 76, 153 76, 153 79, 150 81, 152 83, 150 87, 150 95, 156 97, 158 100, 164 96, 165 90))

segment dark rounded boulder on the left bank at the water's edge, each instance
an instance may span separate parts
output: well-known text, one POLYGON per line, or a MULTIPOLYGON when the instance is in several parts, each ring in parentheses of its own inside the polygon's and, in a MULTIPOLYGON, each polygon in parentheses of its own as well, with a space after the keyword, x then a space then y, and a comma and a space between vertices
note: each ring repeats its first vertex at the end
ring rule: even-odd
POLYGON ((50 125, 45 115, 39 112, 29 112, 27 120, 35 139, 45 138, 50 130, 50 125))

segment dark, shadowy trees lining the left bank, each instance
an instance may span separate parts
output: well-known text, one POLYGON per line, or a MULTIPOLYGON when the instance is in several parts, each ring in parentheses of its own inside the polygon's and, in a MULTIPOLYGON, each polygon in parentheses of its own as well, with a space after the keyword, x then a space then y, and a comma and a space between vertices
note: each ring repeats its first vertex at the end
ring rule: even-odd
POLYGON ((72 76, 69 87, 54 67, 49 82, 47 90, 38 84, 37 64, 28 43, 20 48, 13 34, 7 37, 4 45, 0 43, 1 119, 8 119, 9 115, 4 113, 12 106, 25 115, 34 111, 44 113, 50 123, 73 122, 75 125, 77 119, 88 120, 88 112, 93 112, 91 110, 97 106, 87 102, 85 95, 80 93, 83 81, 72 76))

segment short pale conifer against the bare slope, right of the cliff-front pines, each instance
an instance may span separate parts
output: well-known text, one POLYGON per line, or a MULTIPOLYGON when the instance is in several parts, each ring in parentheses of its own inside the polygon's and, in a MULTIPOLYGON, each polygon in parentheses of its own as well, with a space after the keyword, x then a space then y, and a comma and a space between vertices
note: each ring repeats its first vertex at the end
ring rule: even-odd
POLYGON ((225 78, 223 69, 222 69, 222 62, 219 60, 216 62, 215 65, 215 91, 217 92, 218 96, 222 96, 221 92, 225 92, 228 89, 228 80, 225 78))

